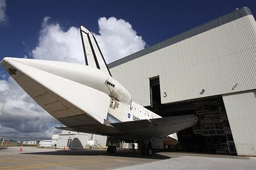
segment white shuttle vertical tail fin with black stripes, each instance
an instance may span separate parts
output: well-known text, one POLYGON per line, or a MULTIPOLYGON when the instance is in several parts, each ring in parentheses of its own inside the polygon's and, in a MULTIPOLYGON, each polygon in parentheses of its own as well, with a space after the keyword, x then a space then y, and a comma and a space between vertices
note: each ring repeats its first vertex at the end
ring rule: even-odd
POLYGON ((80 33, 86 65, 100 69, 111 76, 106 61, 102 55, 102 52, 100 51, 97 40, 93 36, 92 32, 88 31, 88 29, 81 25, 80 33))

